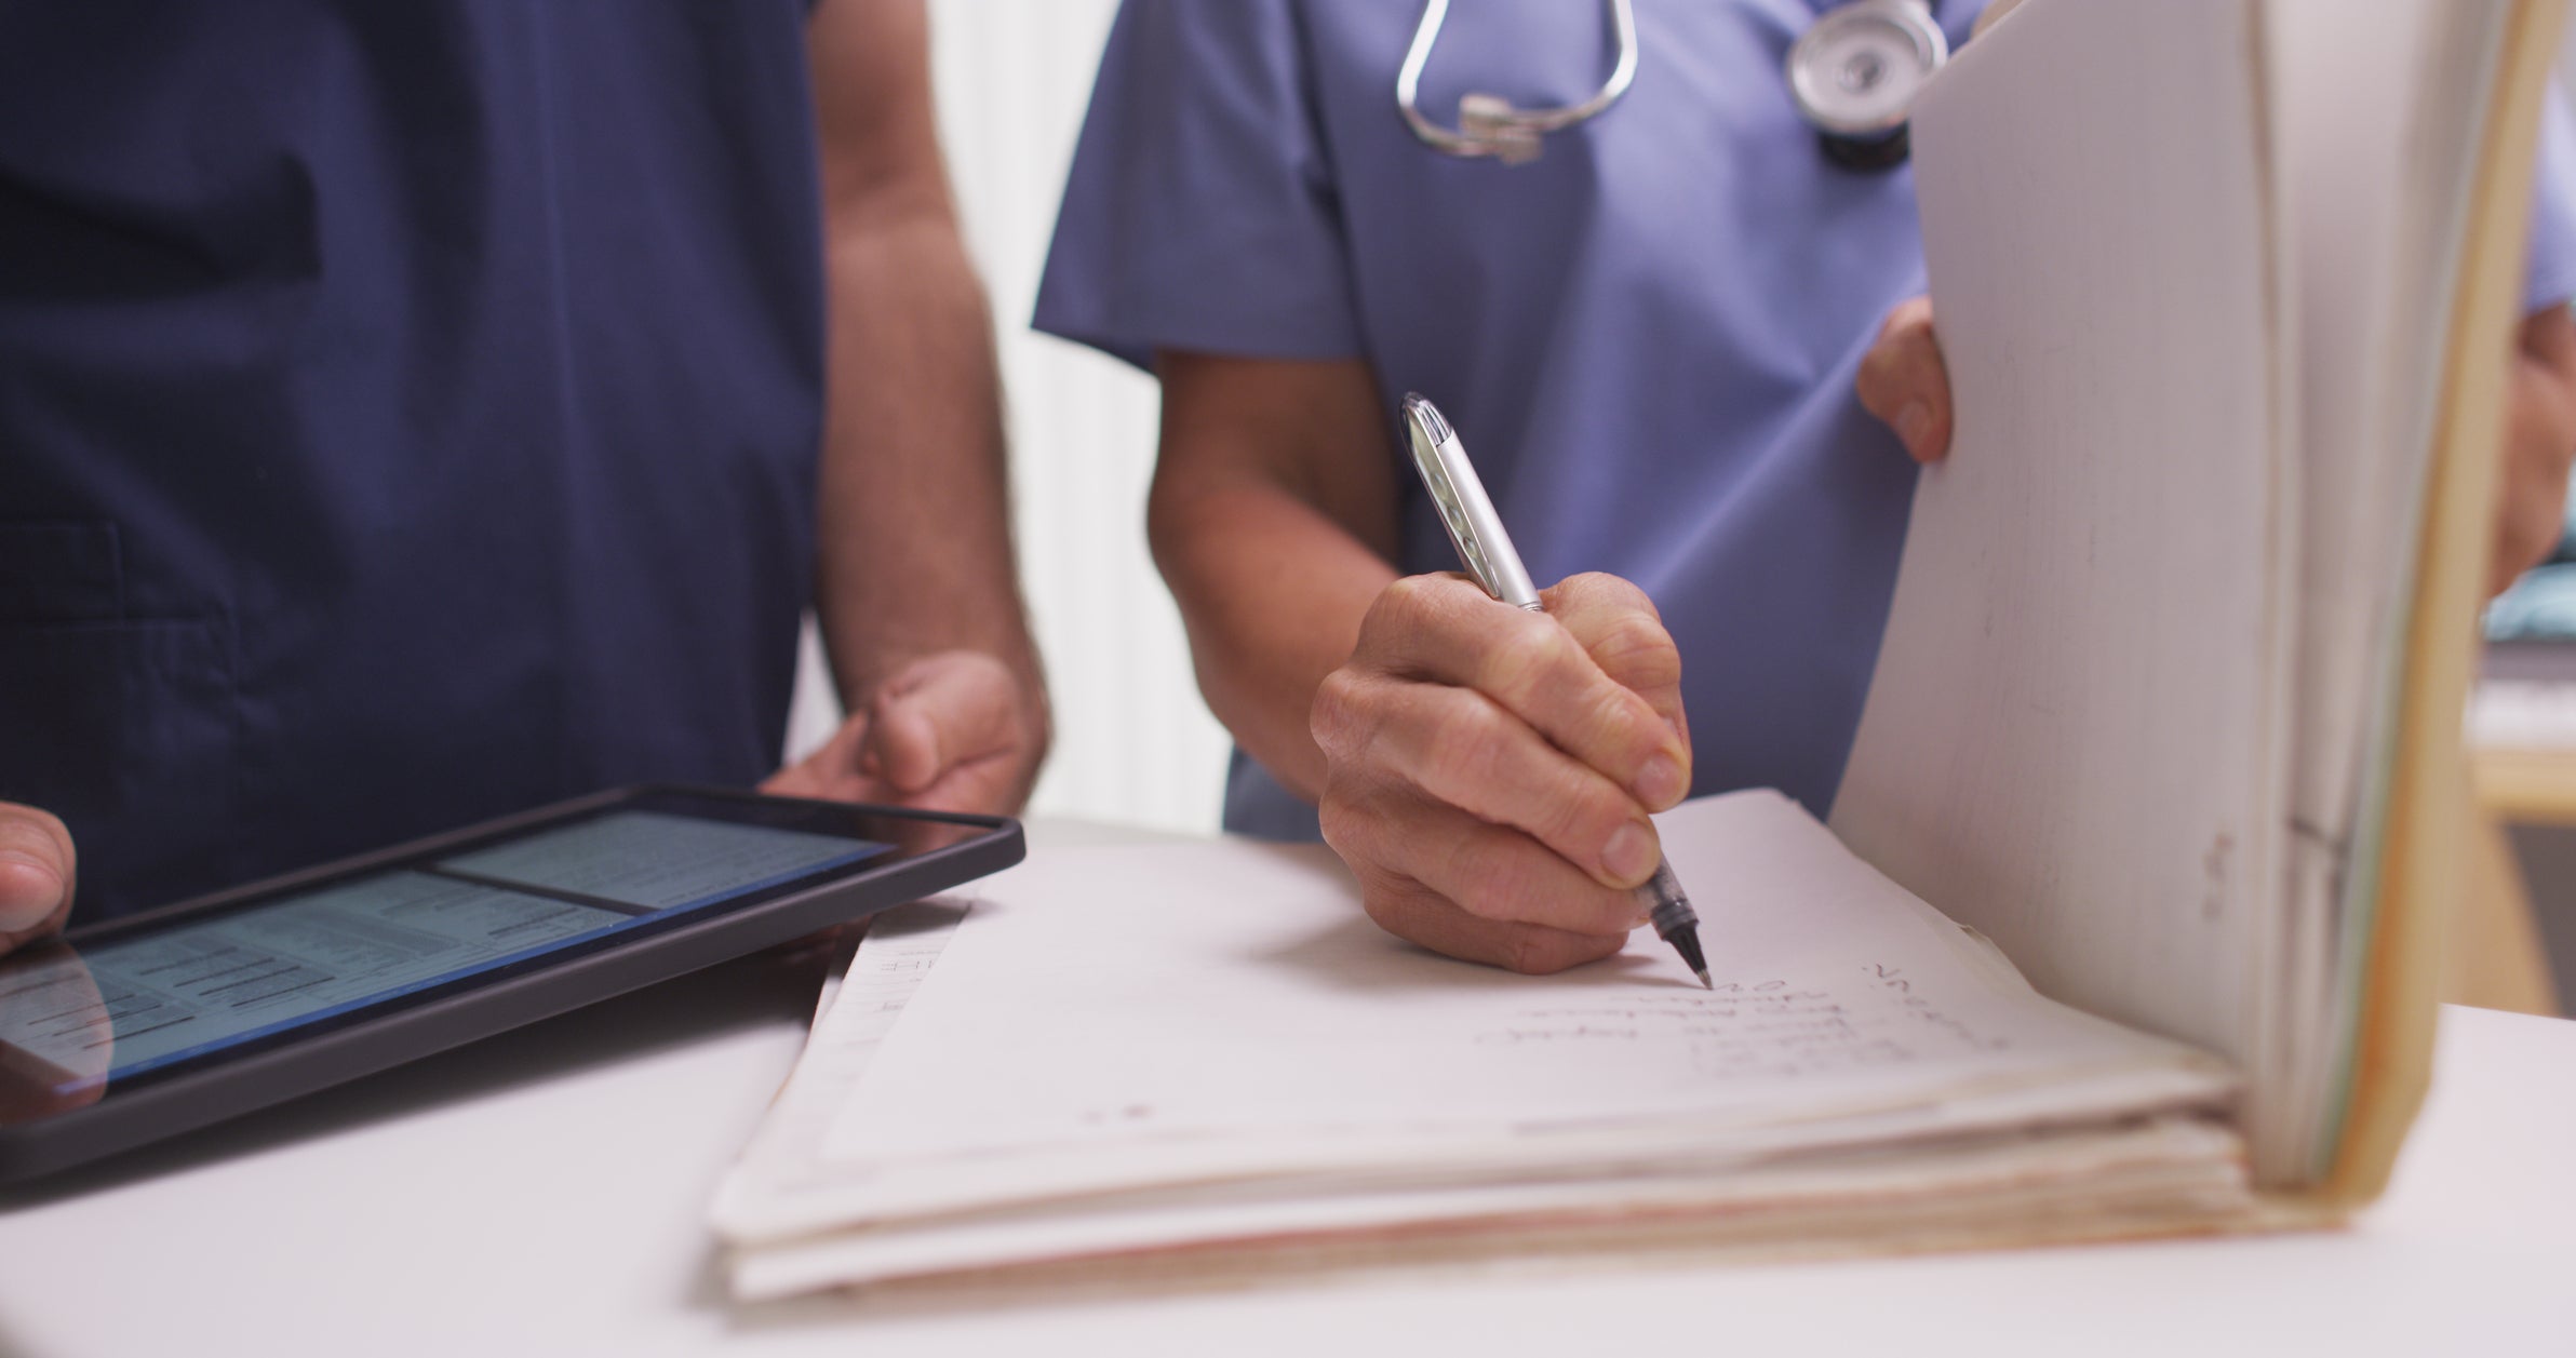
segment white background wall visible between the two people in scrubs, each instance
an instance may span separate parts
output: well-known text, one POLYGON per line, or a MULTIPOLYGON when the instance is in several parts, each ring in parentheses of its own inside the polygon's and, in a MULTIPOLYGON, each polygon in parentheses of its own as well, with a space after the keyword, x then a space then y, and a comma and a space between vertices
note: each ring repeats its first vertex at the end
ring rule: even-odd
MULTIPOLYGON (((1226 734, 1190 678, 1144 546, 1154 381, 1028 330, 1056 198, 1115 0, 930 0, 948 173, 992 291, 1010 402, 1020 582, 1056 747, 1033 814, 1216 830, 1226 734)), ((837 722, 806 636, 791 750, 837 722)))

